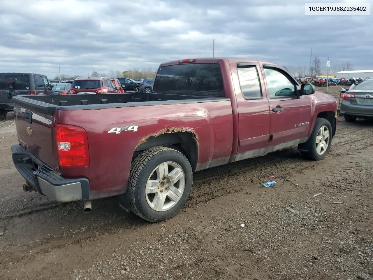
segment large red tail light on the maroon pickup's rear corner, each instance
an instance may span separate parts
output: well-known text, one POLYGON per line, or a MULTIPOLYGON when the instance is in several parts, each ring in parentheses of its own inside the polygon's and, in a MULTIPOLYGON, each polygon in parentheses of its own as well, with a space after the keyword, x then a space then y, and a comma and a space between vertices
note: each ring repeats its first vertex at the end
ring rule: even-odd
POLYGON ((90 164, 87 132, 74 125, 55 124, 60 167, 86 167, 90 164))

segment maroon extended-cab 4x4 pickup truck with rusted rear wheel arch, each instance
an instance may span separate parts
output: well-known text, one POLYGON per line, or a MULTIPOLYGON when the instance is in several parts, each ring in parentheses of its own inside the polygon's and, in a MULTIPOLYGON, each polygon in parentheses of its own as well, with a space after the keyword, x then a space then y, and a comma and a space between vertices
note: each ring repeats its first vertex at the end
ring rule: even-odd
POLYGON ((193 172, 298 145, 323 159, 334 97, 282 66, 250 59, 162 63, 152 93, 16 96, 13 162, 25 191, 60 202, 119 196, 157 222, 175 215, 193 172))

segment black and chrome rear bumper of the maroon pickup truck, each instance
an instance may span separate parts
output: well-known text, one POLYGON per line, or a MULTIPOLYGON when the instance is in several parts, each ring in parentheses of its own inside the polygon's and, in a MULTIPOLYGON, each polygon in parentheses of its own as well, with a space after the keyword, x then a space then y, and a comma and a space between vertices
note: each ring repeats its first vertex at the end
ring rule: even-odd
POLYGON ((90 199, 90 183, 86 178, 63 178, 19 144, 11 150, 14 166, 38 193, 59 202, 90 199))

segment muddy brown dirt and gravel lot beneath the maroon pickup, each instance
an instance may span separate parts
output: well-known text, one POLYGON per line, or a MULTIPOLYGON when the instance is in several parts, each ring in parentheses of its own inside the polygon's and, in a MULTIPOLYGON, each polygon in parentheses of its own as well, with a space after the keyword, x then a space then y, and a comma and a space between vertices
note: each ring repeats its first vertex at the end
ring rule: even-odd
POLYGON ((372 279, 372 128, 340 118, 323 161, 293 148, 197 172, 184 210, 150 224, 116 198, 87 214, 24 193, 10 115, 0 123, 0 279, 372 279), (260 187, 267 175, 276 188, 260 187))

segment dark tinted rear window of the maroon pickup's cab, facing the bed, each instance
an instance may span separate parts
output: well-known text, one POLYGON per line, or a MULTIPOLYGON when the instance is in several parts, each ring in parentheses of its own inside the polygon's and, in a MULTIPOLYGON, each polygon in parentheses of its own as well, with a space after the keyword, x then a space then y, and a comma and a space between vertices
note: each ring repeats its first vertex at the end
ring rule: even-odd
POLYGON ((217 63, 178 64, 158 70, 153 92, 224 97, 217 63))

